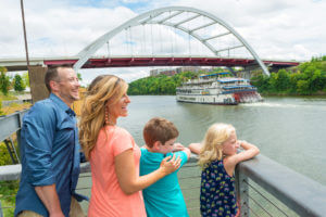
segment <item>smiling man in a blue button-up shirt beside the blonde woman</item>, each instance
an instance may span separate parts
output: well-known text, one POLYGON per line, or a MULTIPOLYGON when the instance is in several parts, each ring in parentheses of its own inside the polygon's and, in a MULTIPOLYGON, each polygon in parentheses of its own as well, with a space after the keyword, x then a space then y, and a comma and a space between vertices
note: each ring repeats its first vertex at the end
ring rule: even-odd
POLYGON ((71 105, 79 99, 79 81, 67 65, 49 68, 45 78, 50 97, 24 116, 21 132, 22 176, 15 216, 67 217, 83 196, 75 193, 79 175, 79 143, 71 105))

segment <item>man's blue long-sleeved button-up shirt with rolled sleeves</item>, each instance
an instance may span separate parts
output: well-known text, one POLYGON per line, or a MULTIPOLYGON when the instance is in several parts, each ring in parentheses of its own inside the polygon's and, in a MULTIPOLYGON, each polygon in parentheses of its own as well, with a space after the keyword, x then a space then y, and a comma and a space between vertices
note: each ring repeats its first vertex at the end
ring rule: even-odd
POLYGON ((75 113, 51 93, 25 114, 21 132, 22 176, 15 216, 33 210, 49 216, 35 187, 55 183, 67 217, 79 175, 79 143, 75 113))

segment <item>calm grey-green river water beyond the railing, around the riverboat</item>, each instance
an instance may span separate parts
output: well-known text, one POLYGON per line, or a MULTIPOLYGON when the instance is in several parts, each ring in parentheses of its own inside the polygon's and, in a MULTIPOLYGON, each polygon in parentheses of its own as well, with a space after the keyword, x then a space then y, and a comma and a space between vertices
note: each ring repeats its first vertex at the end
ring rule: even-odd
POLYGON ((176 102, 174 95, 130 97, 129 115, 118 119, 138 145, 142 127, 155 116, 175 123, 178 142, 187 145, 203 139, 214 123, 236 127, 238 139, 261 153, 326 186, 326 98, 267 97, 264 102, 240 105, 205 105, 176 102))

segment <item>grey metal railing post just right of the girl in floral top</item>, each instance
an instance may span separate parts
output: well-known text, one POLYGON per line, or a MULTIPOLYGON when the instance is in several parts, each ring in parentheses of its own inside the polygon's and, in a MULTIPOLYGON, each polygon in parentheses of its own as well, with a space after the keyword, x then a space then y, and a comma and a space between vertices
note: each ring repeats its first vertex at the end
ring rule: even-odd
POLYGON ((248 177, 240 173, 239 167, 236 167, 236 190, 238 206, 240 208, 241 217, 249 217, 249 188, 248 188, 248 177))

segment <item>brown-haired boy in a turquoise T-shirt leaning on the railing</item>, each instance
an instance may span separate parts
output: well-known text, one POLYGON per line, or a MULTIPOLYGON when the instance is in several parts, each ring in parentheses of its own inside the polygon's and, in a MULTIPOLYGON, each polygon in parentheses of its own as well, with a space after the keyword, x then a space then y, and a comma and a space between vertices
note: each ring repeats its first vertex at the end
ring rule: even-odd
MULTIPOLYGON (((158 169, 165 156, 173 156, 173 154, 176 157, 179 156, 181 158, 179 168, 188 161, 190 150, 179 143, 174 144, 179 132, 172 122, 154 117, 146 124, 142 133, 146 145, 140 149, 140 176, 158 169), (176 150, 179 152, 172 153, 176 150)), ((178 183, 177 171, 142 190, 146 212, 149 217, 189 216, 178 183)))

